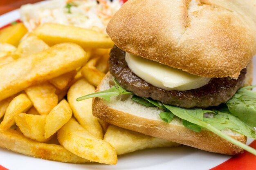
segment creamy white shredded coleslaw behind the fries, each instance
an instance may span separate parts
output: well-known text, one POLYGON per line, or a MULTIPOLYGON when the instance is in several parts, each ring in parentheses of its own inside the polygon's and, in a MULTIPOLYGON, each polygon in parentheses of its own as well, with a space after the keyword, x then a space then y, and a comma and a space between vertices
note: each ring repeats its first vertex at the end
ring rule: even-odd
POLYGON ((20 16, 29 32, 44 23, 57 23, 106 33, 120 7, 120 0, 49 0, 23 5, 20 16))

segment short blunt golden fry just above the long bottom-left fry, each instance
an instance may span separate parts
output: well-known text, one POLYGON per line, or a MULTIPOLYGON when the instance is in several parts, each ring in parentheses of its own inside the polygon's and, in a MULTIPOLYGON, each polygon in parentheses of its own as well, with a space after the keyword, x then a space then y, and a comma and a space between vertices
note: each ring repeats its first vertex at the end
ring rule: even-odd
POLYGON ((25 137, 36 141, 45 142, 50 138, 45 138, 45 119, 47 115, 29 115, 19 113, 15 115, 15 122, 25 137))

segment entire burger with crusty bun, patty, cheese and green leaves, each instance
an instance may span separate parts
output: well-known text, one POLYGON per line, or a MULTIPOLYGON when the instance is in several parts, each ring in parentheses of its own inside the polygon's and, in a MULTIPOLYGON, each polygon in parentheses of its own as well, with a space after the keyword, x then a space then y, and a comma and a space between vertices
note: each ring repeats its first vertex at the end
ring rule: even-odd
POLYGON ((93 115, 209 152, 256 150, 254 11, 238 0, 129 0, 110 20, 93 115))

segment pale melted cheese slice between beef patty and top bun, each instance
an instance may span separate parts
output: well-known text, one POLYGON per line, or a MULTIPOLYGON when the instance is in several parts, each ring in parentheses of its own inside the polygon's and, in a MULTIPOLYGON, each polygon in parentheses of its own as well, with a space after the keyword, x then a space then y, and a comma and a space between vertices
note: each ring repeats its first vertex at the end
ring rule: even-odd
POLYGON ((206 85, 211 78, 199 77, 153 60, 126 53, 130 70, 153 86, 168 91, 186 91, 206 85))

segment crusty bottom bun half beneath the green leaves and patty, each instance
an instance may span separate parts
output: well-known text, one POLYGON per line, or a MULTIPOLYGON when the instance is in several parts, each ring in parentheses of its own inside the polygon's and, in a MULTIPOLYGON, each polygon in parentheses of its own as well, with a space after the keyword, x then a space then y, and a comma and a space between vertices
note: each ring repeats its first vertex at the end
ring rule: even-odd
MULTIPOLYGON (((107 90, 113 84, 113 76, 108 73, 98 86, 97 91, 107 90)), ((143 106, 132 101, 131 97, 132 95, 119 95, 111 97, 110 102, 98 97, 94 98, 92 113, 99 119, 121 128, 201 150, 226 155, 236 155, 243 152, 242 148, 231 144, 209 130, 202 129, 198 133, 184 127, 180 118, 175 117, 170 123, 166 123, 159 117, 159 113, 163 111, 162 109, 143 106)), ((247 137, 240 133, 231 130, 224 130, 223 132, 242 143, 246 143, 247 137)))

